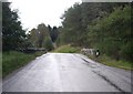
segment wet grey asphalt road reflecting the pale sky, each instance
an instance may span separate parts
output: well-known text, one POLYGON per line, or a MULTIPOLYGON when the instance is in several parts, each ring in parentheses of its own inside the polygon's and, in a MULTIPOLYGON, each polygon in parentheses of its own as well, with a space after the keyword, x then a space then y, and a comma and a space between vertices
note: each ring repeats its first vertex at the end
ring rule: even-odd
POLYGON ((3 80, 3 92, 131 92, 131 72, 82 54, 47 53, 3 80))

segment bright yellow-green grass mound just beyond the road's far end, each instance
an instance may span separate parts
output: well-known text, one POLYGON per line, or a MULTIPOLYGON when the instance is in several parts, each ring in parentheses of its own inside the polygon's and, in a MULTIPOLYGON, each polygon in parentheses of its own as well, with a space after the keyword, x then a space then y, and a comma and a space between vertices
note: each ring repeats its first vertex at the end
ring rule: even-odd
POLYGON ((70 44, 68 44, 68 45, 62 45, 62 46, 55 49, 52 52, 58 52, 58 53, 80 53, 80 48, 71 46, 70 44))

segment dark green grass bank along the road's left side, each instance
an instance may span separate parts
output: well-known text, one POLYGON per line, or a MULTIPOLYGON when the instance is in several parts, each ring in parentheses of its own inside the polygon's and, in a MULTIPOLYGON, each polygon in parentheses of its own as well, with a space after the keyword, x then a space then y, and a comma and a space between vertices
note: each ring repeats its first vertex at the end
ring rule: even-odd
POLYGON ((43 54, 43 52, 37 52, 32 54, 25 54, 21 52, 10 51, 2 54, 2 76, 4 77, 12 71, 28 64, 37 56, 43 54))

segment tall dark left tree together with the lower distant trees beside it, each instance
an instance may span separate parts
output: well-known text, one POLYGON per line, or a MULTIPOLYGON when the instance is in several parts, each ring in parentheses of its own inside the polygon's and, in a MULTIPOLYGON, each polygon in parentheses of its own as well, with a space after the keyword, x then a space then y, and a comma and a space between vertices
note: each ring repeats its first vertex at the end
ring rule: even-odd
POLYGON ((10 2, 2 3, 2 51, 27 50, 28 48, 44 48, 47 51, 54 49, 58 28, 41 23, 31 31, 23 30, 18 10, 11 10, 10 4, 10 2))

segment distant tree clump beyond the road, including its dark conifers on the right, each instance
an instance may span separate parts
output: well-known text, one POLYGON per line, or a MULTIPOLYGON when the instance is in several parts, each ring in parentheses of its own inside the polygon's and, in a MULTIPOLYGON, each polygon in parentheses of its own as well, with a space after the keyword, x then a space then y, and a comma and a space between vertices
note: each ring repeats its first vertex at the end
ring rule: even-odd
POLYGON ((57 27, 45 27, 44 23, 41 23, 37 29, 32 29, 29 32, 29 41, 33 48, 45 48, 48 51, 51 51, 54 49, 53 43, 55 43, 58 35, 57 27))

